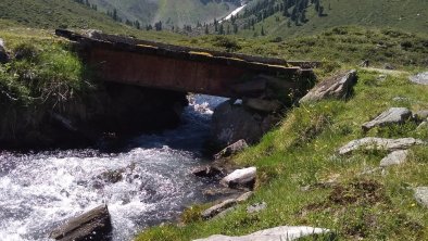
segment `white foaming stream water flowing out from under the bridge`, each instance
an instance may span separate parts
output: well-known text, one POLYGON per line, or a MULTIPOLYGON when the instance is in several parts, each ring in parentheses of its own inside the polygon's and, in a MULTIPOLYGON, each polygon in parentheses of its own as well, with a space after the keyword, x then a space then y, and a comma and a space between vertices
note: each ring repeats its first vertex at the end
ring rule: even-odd
POLYGON ((213 107, 223 99, 196 96, 184 125, 129 140, 123 152, 70 150, 0 152, 0 240, 49 240, 65 219, 106 203, 113 240, 176 218, 203 202, 209 183, 190 169, 204 160, 213 107))

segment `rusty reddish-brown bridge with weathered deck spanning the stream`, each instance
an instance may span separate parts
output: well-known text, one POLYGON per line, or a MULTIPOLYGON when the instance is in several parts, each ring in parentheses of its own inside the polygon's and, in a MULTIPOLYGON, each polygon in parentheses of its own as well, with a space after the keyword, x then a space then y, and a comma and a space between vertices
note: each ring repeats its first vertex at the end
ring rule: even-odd
POLYGON ((314 85, 313 63, 56 29, 103 81, 291 104, 314 85))

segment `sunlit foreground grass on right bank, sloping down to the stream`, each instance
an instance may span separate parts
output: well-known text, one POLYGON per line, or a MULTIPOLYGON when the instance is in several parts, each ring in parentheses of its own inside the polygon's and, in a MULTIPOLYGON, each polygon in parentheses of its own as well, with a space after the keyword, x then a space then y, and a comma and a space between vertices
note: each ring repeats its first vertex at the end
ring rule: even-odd
MULTIPOLYGON (((327 100, 294 107, 259 144, 234 158, 237 165, 255 165, 259 169, 255 195, 237 211, 214 220, 194 218, 185 226, 150 228, 136 240, 239 236, 281 225, 329 228, 339 240, 428 239, 428 212, 414 201, 412 191, 428 185, 428 147, 414 148, 406 164, 388 168, 385 174, 361 174, 379 166, 386 154, 382 151, 337 154, 348 141, 365 136, 361 125, 377 113, 391 106, 428 109, 428 87, 411 84, 405 74, 388 76, 383 83, 376 80, 378 74, 374 72, 358 69, 358 76, 349 101, 327 100), (396 102, 394 97, 407 97, 410 101, 396 102), (317 185, 326 181, 336 186, 317 185), (302 191, 306 186, 313 188, 302 191), (266 202, 267 208, 247 214, 246 206, 257 202, 266 202)), ((408 128, 406 132, 377 128, 368 136, 428 140, 427 129, 404 128, 408 128)))

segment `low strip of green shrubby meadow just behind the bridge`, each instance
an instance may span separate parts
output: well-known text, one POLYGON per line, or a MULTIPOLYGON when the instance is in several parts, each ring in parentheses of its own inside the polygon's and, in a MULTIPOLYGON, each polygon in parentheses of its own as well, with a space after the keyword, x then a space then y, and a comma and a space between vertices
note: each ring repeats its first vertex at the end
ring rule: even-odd
POLYGON ((228 46, 222 42, 232 42, 236 52, 285 60, 352 65, 368 60, 373 66, 382 67, 385 63, 390 63, 406 69, 428 66, 428 37, 391 28, 343 26, 326 29, 317 35, 284 40, 269 37, 203 36, 175 41, 184 46, 228 51, 228 46))

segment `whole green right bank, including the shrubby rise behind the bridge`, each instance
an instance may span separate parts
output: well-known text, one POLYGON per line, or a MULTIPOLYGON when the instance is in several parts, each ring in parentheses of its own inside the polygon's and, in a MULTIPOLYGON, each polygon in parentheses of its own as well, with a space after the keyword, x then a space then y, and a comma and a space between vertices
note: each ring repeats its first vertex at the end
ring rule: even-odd
POLYGON ((362 129, 364 123, 389 107, 407 107, 414 113, 428 110, 427 86, 408 78, 428 67, 426 38, 417 38, 400 31, 348 27, 279 43, 237 42, 244 52, 336 60, 324 61, 316 69, 318 77, 355 68, 358 83, 349 100, 294 106, 259 144, 232 157, 235 165, 257 168, 255 192, 249 201, 211 220, 203 220, 201 213, 214 203, 193 205, 179 224, 143 230, 136 240, 243 236, 284 225, 327 228, 343 240, 428 239, 427 207, 415 199, 417 188, 428 186, 427 145, 411 148, 404 164, 388 168, 379 167, 386 151, 338 154, 339 148, 364 137, 428 140, 428 130, 415 122, 368 132, 362 129), (415 49, 402 47, 404 36, 412 36, 415 49), (366 65, 375 68, 360 67, 366 58, 366 65), (386 67, 394 71, 386 72, 386 67), (266 208, 247 212, 260 203, 266 208))

